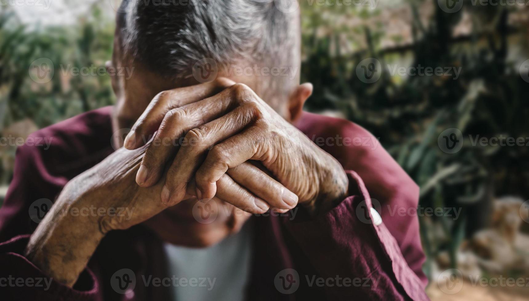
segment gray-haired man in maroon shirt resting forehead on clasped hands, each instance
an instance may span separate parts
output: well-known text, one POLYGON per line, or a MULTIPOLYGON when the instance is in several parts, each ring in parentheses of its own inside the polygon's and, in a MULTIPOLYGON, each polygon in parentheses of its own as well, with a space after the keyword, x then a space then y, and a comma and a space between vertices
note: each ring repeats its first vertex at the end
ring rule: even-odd
POLYGON ((17 151, 0 295, 427 299, 418 221, 389 210, 417 185, 365 129, 302 110, 299 10, 274 3, 123 2, 116 105, 17 151))

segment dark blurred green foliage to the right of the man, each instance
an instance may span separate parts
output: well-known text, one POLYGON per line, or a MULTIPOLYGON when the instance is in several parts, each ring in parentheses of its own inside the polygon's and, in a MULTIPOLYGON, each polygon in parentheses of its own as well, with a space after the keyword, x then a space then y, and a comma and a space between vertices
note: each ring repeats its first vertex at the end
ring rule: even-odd
POLYGON ((431 275, 432 262, 441 251, 450 253, 455 267, 462 240, 489 221, 492 198, 504 194, 529 198, 528 147, 480 147, 468 138, 529 137, 529 84, 508 59, 516 37, 527 36, 526 26, 508 24, 508 8, 472 6, 449 14, 437 0, 427 1, 433 2, 434 10, 428 24, 419 18, 417 4, 422 2, 410 2, 413 42, 400 48, 381 49, 384 32, 376 25, 363 28, 368 49, 352 54, 341 53, 338 34, 317 37, 315 31, 305 30, 302 80, 314 84, 308 109, 340 111, 380 137, 421 186, 419 206, 462 208, 455 221, 419 217, 427 255, 424 268, 431 275), (465 10, 472 14, 472 32, 456 40, 452 32, 465 10), (382 67, 375 83, 356 76, 362 59, 376 58, 385 66, 403 57, 413 58, 412 67, 460 67, 462 72, 458 80, 444 76, 403 80, 382 67), (449 128, 460 129, 466 139, 455 154, 444 153, 437 143, 449 128), (432 234, 439 228, 441 236, 432 234))

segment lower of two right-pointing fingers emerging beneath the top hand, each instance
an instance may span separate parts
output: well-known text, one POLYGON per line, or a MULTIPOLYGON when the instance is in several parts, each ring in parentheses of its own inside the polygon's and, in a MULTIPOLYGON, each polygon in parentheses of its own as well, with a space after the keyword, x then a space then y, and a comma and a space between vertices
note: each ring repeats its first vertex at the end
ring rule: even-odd
POLYGON ((265 200, 252 194, 227 174, 224 174, 218 181, 215 197, 249 213, 262 214, 270 209, 270 205, 265 200))

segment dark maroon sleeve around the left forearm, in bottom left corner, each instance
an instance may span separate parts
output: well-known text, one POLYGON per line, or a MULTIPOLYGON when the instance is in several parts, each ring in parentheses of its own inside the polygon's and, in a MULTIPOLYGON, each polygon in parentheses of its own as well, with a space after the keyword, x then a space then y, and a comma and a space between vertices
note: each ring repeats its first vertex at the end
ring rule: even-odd
POLYGON ((101 301, 93 272, 81 272, 74 288, 48 277, 23 256, 29 235, 0 243, 0 296, 5 300, 101 301))

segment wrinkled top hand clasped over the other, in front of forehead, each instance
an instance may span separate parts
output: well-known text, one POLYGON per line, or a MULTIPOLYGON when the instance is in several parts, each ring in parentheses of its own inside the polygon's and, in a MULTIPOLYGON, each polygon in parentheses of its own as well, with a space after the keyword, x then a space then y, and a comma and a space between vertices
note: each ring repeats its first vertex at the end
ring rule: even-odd
POLYGON ((251 213, 262 212, 257 200, 282 210, 299 201, 314 212, 346 194, 341 165, 244 84, 219 79, 159 93, 136 121, 125 147, 141 146, 141 137, 154 131, 136 182, 144 187, 158 182, 174 157, 161 192, 167 205, 183 200, 193 180, 199 199, 214 197, 226 173, 243 195, 231 203, 251 213), (176 147, 168 143, 174 141, 176 147), (249 160, 260 161, 274 178, 263 176, 254 181, 259 185, 251 185, 249 175, 240 172, 249 160))

